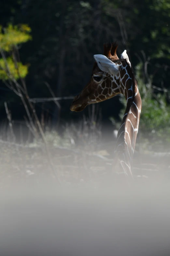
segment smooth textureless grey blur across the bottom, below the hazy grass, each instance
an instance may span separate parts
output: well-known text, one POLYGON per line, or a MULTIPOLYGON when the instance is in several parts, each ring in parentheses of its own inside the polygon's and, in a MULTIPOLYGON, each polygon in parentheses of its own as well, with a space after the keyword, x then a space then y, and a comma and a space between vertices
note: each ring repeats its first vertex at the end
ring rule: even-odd
POLYGON ((0 255, 168 256, 169 196, 167 183, 151 181, 100 190, 13 185, 1 194, 0 255))

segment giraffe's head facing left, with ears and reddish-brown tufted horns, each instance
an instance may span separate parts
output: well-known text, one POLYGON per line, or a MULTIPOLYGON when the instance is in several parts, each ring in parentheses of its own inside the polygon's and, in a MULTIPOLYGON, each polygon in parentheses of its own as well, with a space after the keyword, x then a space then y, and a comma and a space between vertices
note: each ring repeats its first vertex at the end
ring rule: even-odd
POLYGON ((123 93, 121 78, 125 76, 123 71, 127 63, 130 66, 126 50, 120 59, 116 54, 118 44, 104 44, 104 55, 94 55, 95 63, 89 83, 77 95, 70 107, 71 111, 82 111, 87 105, 104 101, 117 94, 123 93), (121 72, 122 71, 122 72, 121 72))

